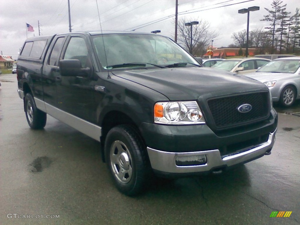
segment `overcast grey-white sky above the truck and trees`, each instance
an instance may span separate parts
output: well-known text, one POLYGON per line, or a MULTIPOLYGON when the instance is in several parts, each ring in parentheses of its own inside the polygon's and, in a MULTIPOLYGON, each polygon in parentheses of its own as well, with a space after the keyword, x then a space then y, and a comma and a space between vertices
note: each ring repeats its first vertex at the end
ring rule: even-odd
MULTIPOLYGON (((161 35, 174 39, 175 0, 97 0, 102 30, 130 31, 138 26, 159 20, 163 21, 136 29, 137 32, 161 30, 161 35)), ((70 0, 72 32, 100 30, 96 0, 70 0)), ((211 30, 219 33, 214 39, 216 47, 233 43, 232 33, 247 28, 247 13, 239 9, 259 6, 259 11, 250 12, 249 31, 269 26, 259 21, 267 15, 264 8, 271 9, 273 0, 178 0, 178 12, 193 12, 179 15, 193 20, 206 20, 211 30), (241 3, 242 2, 242 3, 241 3), (230 5, 231 4, 231 5, 230 5), (228 6, 226 6, 228 5, 228 6), (224 7, 222 7, 224 6, 224 7), (218 8, 216 8, 218 7, 218 8), (189 11, 191 10, 191 11, 189 11)), ((286 9, 295 14, 300 0, 282 0, 286 9)), ((38 21, 41 35, 69 32, 67 0, 9 0, 1 1, 0 8, 0 54, 17 59, 19 49, 26 40, 26 23, 34 28, 28 37, 38 36, 38 21)))

